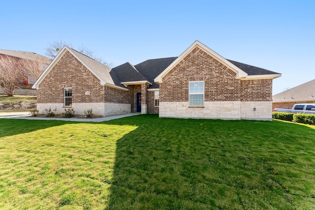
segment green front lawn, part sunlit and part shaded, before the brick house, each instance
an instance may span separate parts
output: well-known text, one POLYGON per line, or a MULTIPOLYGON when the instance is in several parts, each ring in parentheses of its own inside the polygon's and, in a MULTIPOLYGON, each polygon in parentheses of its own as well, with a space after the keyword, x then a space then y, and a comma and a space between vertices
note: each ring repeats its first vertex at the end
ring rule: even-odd
POLYGON ((0 209, 315 209, 315 127, 0 119, 0 209))

